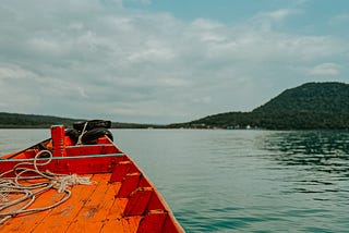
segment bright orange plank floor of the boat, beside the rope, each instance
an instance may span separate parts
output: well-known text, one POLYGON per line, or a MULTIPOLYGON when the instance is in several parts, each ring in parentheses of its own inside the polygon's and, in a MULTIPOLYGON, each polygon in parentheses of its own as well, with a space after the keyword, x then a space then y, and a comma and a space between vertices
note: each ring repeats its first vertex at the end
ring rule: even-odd
MULTIPOLYGON (((121 182, 110 183, 109 180, 110 174, 94 174, 91 179, 93 184, 73 186, 72 196, 64 204, 46 211, 19 214, 0 225, 0 232, 140 231, 143 217, 124 216, 129 198, 118 197, 121 182)), ((61 199, 62 195, 50 189, 31 208, 51 205, 61 199)), ((161 228, 160 224, 157 226, 161 228)))

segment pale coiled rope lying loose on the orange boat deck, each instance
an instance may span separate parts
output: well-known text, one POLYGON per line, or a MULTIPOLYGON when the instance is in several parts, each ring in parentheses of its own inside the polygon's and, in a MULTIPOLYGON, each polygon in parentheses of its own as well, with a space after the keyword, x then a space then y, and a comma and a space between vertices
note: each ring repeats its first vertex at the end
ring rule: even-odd
POLYGON ((52 154, 49 150, 39 151, 33 162, 17 163, 12 170, 0 174, 0 224, 20 213, 38 212, 52 209, 71 196, 68 186, 76 184, 91 185, 91 176, 77 176, 76 174, 55 174, 50 171, 41 172, 38 168, 47 165, 52 160, 52 154), (45 156, 45 160, 39 160, 45 156), (48 158, 47 158, 48 156, 48 158), (29 168, 32 167, 32 168, 29 168), (13 173, 13 177, 3 177, 13 173), (32 176, 25 173, 34 174, 32 176), (31 181, 39 179, 40 182, 33 183, 31 181), (20 182, 26 181, 26 182, 20 182), (58 193, 64 193, 63 197, 57 203, 39 208, 28 208, 41 194, 56 189, 58 193))

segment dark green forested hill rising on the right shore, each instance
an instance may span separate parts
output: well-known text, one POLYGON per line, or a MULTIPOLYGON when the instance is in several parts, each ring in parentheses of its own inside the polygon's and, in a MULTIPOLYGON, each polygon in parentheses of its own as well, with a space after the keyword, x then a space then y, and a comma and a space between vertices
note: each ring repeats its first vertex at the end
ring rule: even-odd
POLYGON ((220 113, 172 126, 348 130, 349 85, 335 82, 306 83, 285 90, 252 112, 220 113))

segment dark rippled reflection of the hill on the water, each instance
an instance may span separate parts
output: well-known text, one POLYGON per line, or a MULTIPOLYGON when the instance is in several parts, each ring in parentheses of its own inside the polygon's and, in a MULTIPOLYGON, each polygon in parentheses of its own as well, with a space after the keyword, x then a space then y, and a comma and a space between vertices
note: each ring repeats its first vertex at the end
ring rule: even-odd
POLYGON ((263 138, 264 149, 285 165, 349 176, 349 133, 335 131, 275 132, 263 138))

